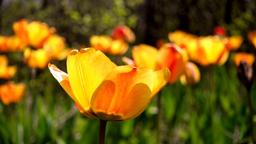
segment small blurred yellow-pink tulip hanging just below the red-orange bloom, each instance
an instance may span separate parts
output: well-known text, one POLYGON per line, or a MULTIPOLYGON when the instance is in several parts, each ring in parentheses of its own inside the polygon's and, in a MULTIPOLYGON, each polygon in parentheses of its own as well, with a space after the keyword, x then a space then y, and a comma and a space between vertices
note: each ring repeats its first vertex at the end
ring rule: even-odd
POLYGON ((192 62, 186 62, 185 74, 180 76, 180 82, 185 85, 196 84, 200 81, 200 71, 196 64, 192 62))

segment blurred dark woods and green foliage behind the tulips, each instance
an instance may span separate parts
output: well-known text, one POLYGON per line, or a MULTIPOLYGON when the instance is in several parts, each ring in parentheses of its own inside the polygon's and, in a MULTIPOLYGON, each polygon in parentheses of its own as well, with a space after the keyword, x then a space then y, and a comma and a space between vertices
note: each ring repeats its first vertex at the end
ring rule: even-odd
MULTIPOLYGON (((156 47, 161 39, 170 42, 170 32, 210 36, 216 26, 222 26, 226 36, 242 36, 243 43, 222 66, 197 64, 198 84, 183 86, 178 81, 162 89, 161 130, 156 128, 158 105, 153 98, 137 118, 109 122, 105 143, 156 144, 159 135, 162 144, 253 143, 248 92, 238 78, 234 54, 256 54, 248 40, 248 33, 256 29, 255 16, 254 0, 0 0, 0 35, 14 35, 14 22, 25 18, 54 27, 68 48, 79 49, 90 47, 92 35, 111 35, 113 28, 126 25, 136 36, 124 54, 132 58, 133 46, 156 47)), ((11 80, 26 84, 20 102, 0 103, 1 144, 97 143, 99 121, 78 112, 48 68, 28 67, 22 62, 22 52, 0 54, 8 57, 8 65, 18 67, 11 80)), ((65 59, 51 64, 66 72, 65 59)), ((7 81, 0 79, 0 84, 7 81)), ((255 123, 255 84, 249 93, 255 123)))

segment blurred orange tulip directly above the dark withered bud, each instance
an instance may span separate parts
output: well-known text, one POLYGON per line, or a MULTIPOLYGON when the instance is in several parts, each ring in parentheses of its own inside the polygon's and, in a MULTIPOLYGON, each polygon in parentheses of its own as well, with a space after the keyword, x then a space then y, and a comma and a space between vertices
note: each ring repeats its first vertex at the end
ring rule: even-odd
POLYGON ((248 54, 246 52, 239 52, 236 53, 234 56, 234 62, 236 66, 240 66, 240 63, 244 61, 250 67, 252 66, 253 62, 255 61, 255 56, 253 54, 248 54))

